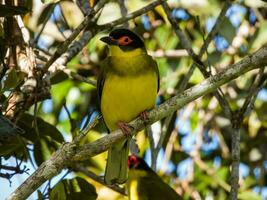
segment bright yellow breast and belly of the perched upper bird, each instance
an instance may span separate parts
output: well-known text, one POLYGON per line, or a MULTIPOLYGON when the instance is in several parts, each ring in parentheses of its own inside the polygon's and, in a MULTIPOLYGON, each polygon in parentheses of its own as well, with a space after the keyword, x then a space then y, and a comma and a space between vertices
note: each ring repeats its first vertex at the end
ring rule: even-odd
POLYGON ((117 129, 118 122, 130 122, 141 112, 153 108, 157 87, 157 74, 153 71, 134 76, 107 75, 101 111, 109 130, 117 129))

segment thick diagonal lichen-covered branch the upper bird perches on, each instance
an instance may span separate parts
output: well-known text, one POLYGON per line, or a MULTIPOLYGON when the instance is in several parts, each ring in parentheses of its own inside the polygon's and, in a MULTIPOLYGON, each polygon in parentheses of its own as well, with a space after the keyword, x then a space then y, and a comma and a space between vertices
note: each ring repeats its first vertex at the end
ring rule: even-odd
MULTIPOLYGON (((238 76, 265 65, 267 65, 267 46, 262 47, 253 55, 245 57, 238 63, 229 66, 227 70, 204 80, 202 83, 174 96, 159 107, 151 110, 149 112, 149 124, 172 114, 187 103, 215 91, 219 86, 238 76)), ((145 126, 140 118, 133 120, 130 125, 133 127, 132 134, 142 130, 145 126)), ((83 146, 77 146, 77 142, 62 145, 52 158, 44 162, 8 199, 26 199, 45 181, 60 173, 69 162, 86 160, 88 157, 102 153, 123 137, 125 135, 121 130, 116 130, 101 139, 83 146)))

